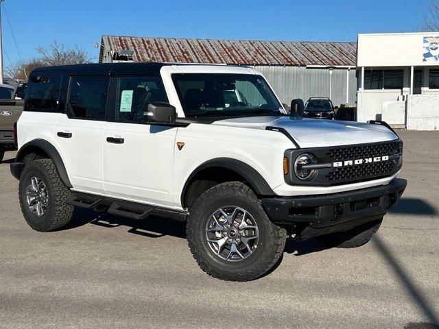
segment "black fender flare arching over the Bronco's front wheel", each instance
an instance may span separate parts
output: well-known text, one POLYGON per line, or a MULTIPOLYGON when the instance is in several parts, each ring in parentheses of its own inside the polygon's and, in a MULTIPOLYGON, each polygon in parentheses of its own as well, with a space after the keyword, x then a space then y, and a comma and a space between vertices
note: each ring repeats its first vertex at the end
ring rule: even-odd
POLYGON ((189 184, 195 175, 204 169, 213 167, 235 171, 235 173, 241 175, 248 182, 248 184, 250 184, 257 195, 276 195, 262 175, 249 164, 232 158, 215 158, 200 164, 200 166, 198 166, 194 171, 192 171, 191 175, 189 175, 189 178, 187 178, 180 196, 181 204, 185 203, 187 188, 189 188, 189 184))

